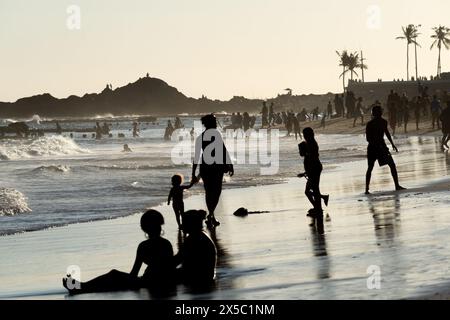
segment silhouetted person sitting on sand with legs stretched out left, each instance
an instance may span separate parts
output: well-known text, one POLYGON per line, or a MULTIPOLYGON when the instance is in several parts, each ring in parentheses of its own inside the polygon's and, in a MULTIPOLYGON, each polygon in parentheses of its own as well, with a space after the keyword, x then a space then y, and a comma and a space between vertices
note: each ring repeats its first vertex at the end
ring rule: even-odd
POLYGON ((163 224, 164 218, 156 210, 149 210, 142 215, 141 228, 148 239, 139 244, 136 260, 130 273, 112 270, 81 283, 68 275, 68 278, 63 279, 63 286, 71 294, 171 287, 175 282, 173 249, 170 242, 161 237, 163 224), (139 277, 142 264, 146 264, 147 268, 143 276, 139 277))

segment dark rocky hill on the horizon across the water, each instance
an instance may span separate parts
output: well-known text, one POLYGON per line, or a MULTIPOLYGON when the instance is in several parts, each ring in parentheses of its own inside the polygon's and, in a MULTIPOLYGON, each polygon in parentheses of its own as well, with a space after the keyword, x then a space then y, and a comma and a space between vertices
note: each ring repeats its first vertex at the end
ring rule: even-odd
MULTIPOLYGON (((326 106, 327 95, 278 95, 269 102, 275 103, 275 111, 285 108, 298 111, 326 106)), ((107 86, 100 93, 82 97, 69 96, 57 99, 45 93, 26 97, 13 103, 0 102, 0 117, 28 118, 35 114, 41 117, 85 117, 104 114, 120 115, 175 115, 180 113, 207 112, 259 112, 263 100, 233 97, 228 101, 211 100, 206 97, 190 98, 161 79, 144 77, 134 83, 112 90, 107 86)))

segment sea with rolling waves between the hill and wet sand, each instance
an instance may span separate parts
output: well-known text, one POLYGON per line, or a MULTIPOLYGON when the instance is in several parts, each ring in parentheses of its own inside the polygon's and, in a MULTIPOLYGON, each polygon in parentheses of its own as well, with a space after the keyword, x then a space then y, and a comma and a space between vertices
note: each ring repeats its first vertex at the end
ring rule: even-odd
MULTIPOLYGON (((164 203, 174 174, 184 176, 185 183, 190 180, 194 138, 201 132, 199 118, 181 116, 185 129, 169 141, 164 140, 164 131, 174 117, 141 122, 139 137, 133 137, 133 116, 59 119, 61 135, 0 139, 0 236, 123 217, 164 203), (93 128, 97 121, 110 125, 111 137, 95 139, 92 133, 79 132, 93 128), (191 136, 194 127, 196 133, 191 136), (123 152, 124 144, 132 152, 123 152)), ((0 125, 17 120, 3 119, 0 125)), ((55 129, 55 121, 36 116, 27 124, 55 129)), ((219 122, 224 128, 229 117, 222 116, 219 122)), ((260 127, 258 119, 255 128, 260 127)), ((271 134, 275 130, 254 130, 250 137, 258 138, 253 140, 233 130, 221 131, 235 161, 235 175, 224 177, 224 188, 276 184, 303 172, 300 138, 287 137, 286 131, 278 129, 276 135, 271 134), (260 139, 264 133, 266 139, 260 139), (268 166, 273 170, 264 173, 261 168, 268 166)), ((319 135, 317 139, 325 168, 365 157, 363 135, 319 135)), ((200 193, 201 185, 186 196, 200 193)))

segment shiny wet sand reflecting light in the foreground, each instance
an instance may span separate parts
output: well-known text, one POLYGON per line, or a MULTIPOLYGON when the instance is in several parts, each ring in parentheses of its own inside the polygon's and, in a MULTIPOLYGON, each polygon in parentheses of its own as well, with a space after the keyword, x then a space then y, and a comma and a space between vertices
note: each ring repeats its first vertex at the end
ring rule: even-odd
MULTIPOLYGON (((306 217, 303 179, 225 190, 217 210, 222 225, 213 235, 217 287, 193 294, 180 285, 170 299, 447 299, 450 156, 438 138, 398 143, 404 151, 395 160, 405 191, 392 191, 385 167, 375 168, 369 196, 363 194, 365 161, 325 167, 322 192, 331 197, 323 234, 306 217), (270 213, 238 218, 233 212, 239 207, 270 213), (368 289, 370 266, 379 268, 380 289, 368 289)), ((204 208, 203 197, 190 197, 185 206, 204 208)), ((166 219, 164 237, 176 251, 174 214, 168 206, 157 209, 166 219)), ((0 237, 0 256, 8 257, 0 260, 0 298, 152 298, 146 290, 69 297, 61 285, 69 265, 80 266, 82 280, 112 268, 131 270, 145 239, 139 218, 0 237)))

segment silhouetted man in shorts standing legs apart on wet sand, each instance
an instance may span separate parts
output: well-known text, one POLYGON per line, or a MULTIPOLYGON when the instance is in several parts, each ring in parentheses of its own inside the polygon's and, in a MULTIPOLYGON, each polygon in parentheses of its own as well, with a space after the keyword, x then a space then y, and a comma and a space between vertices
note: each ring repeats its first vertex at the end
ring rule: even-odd
POLYGON ((384 135, 388 138, 392 144, 392 148, 395 152, 398 152, 397 147, 394 145, 391 134, 389 133, 388 124, 385 119, 382 118, 383 109, 380 105, 376 105, 372 108, 372 120, 367 123, 366 126, 366 139, 369 143, 367 147, 367 173, 366 173, 366 194, 369 194, 370 179, 372 176, 372 170, 375 165, 375 161, 378 160, 380 166, 389 165, 391 169, 392 178, 394 179, 395 190, 403 190, 398 182, 397 168, 392 159, 386 143, 384 142, 384 135))

